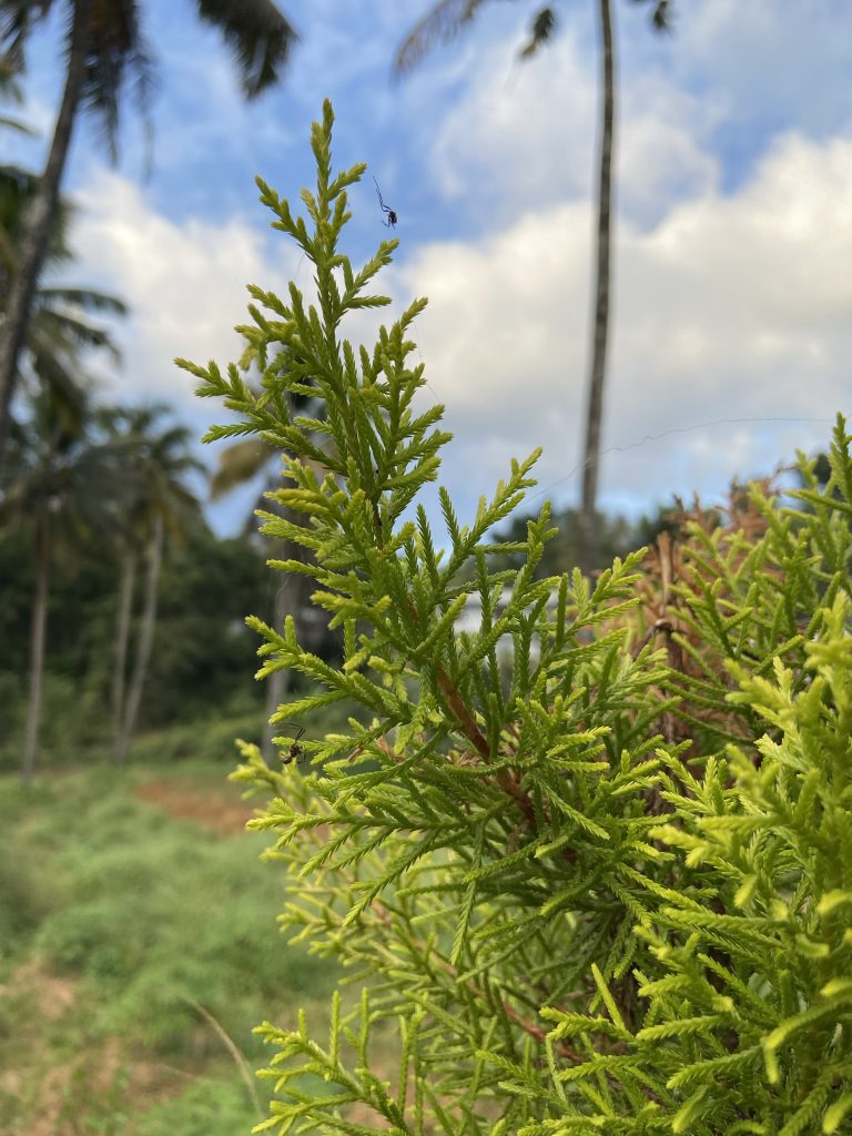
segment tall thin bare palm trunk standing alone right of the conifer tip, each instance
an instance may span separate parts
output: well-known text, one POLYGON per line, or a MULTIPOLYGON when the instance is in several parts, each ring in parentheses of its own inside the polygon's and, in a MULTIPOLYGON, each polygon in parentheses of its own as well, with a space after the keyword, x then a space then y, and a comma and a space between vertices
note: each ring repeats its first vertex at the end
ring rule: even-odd
POLYGON ((588 574, 596 567, 598 470, 601 457, 603 384, 607 377, 609 294, 611 272, 612 148, 616 118, 616 80, 611 0, 599 0, 603 92, 601 100, 600 181, 598 187, 598 262, 595 270, 594 335, 588 375, 586 440, 583 453, 583 502, 578 518, 578 560, 588 574))

